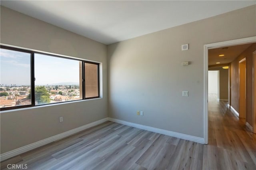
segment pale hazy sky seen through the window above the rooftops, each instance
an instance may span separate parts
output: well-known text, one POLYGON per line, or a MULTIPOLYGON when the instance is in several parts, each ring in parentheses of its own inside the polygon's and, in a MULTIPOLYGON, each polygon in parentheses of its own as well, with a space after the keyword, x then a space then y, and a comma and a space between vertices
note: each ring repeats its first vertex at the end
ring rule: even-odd
MULTIPOLYGON (((35 53, 35 85, 79 83, 79 62, 35 53)), ((30 53, 0 49, 0 84, 30 85, 30 53)))

